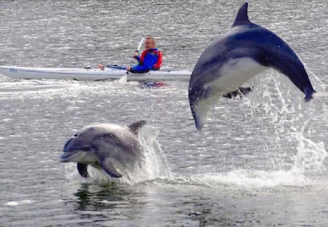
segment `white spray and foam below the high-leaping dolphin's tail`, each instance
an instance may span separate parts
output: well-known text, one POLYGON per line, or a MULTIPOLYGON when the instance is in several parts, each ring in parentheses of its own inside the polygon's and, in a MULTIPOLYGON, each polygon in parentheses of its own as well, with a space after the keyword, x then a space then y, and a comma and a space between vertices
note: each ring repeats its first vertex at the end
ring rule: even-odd
POLYGON ((191 181, 221 188, 306 186, 316 184, 315 178, 326 173, 327 152, 316 131, 318 118, 328 116, 325 85, 317 78, 314 99, 304 102, 300 97, 303 94, 288 78, 273 70, 265 74, 268 76, 259 75, 251 81, 255 88, 242 99, 240 109, 245 115, 244 124, 256 128, 253 133, 263 147, 258 155, 264 156, 266 163, 259 164, 254 158, 256 163, 224 173, 197 174, 191 181))

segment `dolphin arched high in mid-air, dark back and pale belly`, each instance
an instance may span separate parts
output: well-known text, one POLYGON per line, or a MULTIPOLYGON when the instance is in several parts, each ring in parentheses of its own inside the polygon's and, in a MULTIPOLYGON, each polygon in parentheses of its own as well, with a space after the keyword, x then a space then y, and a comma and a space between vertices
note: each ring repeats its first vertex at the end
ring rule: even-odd
POLYGON ((244 3, 228 33, 203 51, 190 77, 189 103, 198 130, 218 98, 233 94, 268 67, 286 75, 305 101, 315 92, 294 50, 275 33, 251 23, 247 7, 244 3))

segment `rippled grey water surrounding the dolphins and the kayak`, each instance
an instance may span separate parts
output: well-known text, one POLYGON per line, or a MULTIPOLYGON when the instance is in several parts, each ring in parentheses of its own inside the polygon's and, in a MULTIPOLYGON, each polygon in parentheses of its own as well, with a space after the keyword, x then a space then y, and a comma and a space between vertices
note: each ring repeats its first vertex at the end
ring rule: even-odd
MULTIPOLYGON (((164 67, 192 70, 244 1, 0 1, 0 65, 131 64, 144 35, 164 67)), ((249 1, 249 17, 283 37, 315 87, 303 94, 268 70, 243 99, 218 102, 194 127, 188 83, 11 80, 0 75, 0 225, 319 226, 328 223, 326 1, 249 1), (143 171, 117 183, 60 163, 90 123, 140 133, 143 171)))

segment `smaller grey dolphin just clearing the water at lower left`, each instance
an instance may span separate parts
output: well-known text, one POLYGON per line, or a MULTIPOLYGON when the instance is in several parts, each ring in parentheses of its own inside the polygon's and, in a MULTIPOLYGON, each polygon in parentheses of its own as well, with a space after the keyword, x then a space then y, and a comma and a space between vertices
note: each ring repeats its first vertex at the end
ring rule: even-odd
POLYGON ((113 178, 122 177, 121 171, 140 165, 142 148, 138 130, 146 124, 139 121, 123 127, 115 124, 88 125, 71 137, 64 146, 61 162, 77 162, 79 174, 87 178, 87 165, 103 169, 113 178))

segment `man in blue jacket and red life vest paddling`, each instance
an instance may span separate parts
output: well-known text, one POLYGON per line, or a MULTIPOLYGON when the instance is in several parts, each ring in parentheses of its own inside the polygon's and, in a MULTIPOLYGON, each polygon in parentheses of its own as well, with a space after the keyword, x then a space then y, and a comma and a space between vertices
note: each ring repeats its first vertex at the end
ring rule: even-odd
POLYGON ((138 60, 138 65, 133 67, 128 66, 127 71, 131 73, 146 73, 150 70, 159 70, 162 63, 162 53, 156 49, 155 39, 151 36, 146 37, 145 50, 139 56, 139 52, 136 51, 133 58, 138 60))

